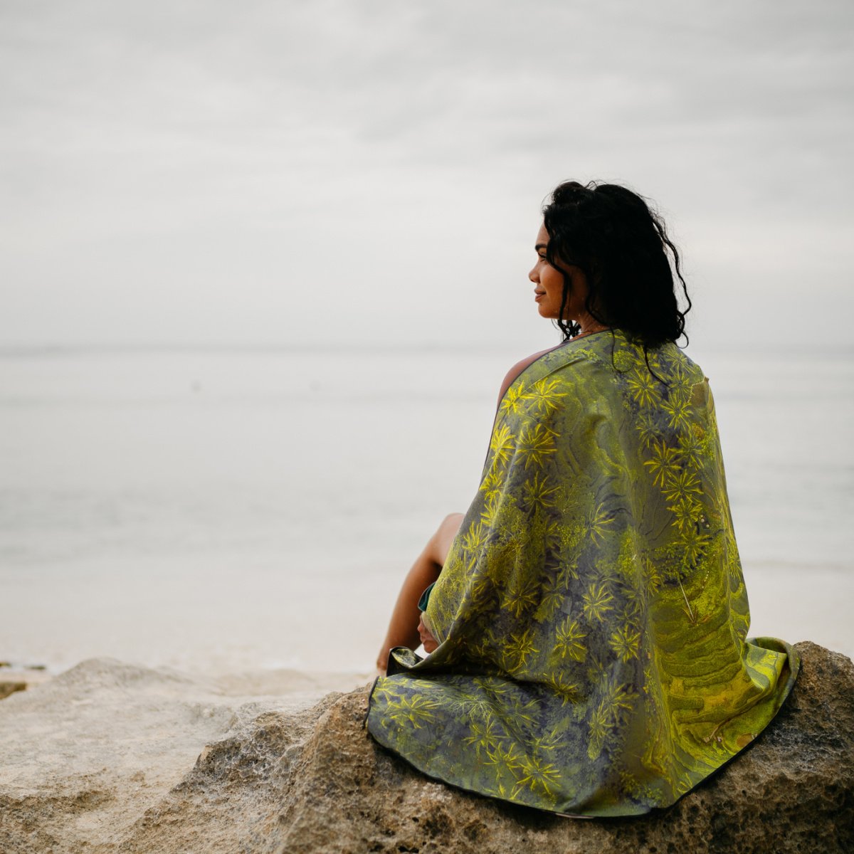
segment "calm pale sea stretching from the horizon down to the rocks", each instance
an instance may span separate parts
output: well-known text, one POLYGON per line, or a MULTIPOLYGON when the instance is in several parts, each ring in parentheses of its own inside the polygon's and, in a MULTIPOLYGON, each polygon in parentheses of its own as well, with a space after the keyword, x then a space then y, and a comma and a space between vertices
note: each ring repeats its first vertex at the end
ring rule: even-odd
MULTIPOLYGON (((851 655, 854 352, 687 353, 751 635, 851 655)), ((477 492, 523 355, 0 352, 0 659, 368 670, 402 576, 477 492)))

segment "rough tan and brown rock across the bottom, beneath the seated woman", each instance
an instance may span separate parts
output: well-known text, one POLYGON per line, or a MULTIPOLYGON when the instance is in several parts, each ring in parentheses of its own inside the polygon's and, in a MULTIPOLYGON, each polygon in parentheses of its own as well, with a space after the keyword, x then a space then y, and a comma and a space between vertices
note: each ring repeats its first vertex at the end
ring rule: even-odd
MULTIPOLYGON (((0 703, 0 851, 854 851, 854 665, 804 641, 763 734, 670 810, 568 819, 430 781, 363 728, 369 687, 247 689, 90 659, 0 703)), ((258 686, 256 686, 258 687, 258 686)))

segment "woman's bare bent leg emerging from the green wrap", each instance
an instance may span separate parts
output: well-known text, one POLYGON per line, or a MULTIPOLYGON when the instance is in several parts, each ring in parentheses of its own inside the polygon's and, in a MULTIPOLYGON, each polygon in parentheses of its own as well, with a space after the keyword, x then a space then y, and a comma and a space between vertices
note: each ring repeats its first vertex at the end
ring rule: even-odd
POLYGON ((389 650, 393 646, 408 646, 410 649, 417 649, 420 646, 418 618, 421 616, 421 611, 418 611, 418 600, 424 593, 424 589, 430 587, 430 584, 439 577, 447 559, 448 550, 462 521, 462 513, 448 513, 442 519, 442 524, 436 529, 436 533, 427 541, 424 550, 418 555, 404 579, 401 592, 397 596, 395 610, 391 613, 389 631, 377 655, 377 670, 381 673, 385 672, 385 665, 389 661, 389 650))

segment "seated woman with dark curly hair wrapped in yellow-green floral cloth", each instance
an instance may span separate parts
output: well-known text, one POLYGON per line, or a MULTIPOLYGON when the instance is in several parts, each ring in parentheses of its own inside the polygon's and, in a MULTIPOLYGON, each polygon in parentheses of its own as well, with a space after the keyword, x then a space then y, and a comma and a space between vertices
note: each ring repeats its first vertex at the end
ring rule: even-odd
POLYGON ((477 495, 401 589, 366 726, 474 792, 640 815, 750 744, 800 662, 746 638, 714 403, 676 347, 691 303, 664 223, 623 187, 569 182, 535 249, 535 300, 564 341, 508 373, 477 495))

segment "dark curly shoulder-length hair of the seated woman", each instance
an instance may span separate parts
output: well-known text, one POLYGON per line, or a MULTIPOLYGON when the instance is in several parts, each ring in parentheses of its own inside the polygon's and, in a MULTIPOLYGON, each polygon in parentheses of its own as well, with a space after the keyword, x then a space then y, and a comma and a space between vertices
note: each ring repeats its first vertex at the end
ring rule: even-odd
MULTIPOLYGON (((643 198, 618 184, 567 181, 553 190, 542 213, 549 238, 546 259, 558 270, 561 264, 582 269, 589 286, 584 306, 592 318, 642 344, 647 367, 647 348, 683 335, 687 344, 691 298, 679 253, 664 221, 643 198), (674 270, 687 299, 684 312, 676 302, 674 270)), ((564 341, 580 330, 563 318, 571 287, 564 272, 558 319, 564 341)))

